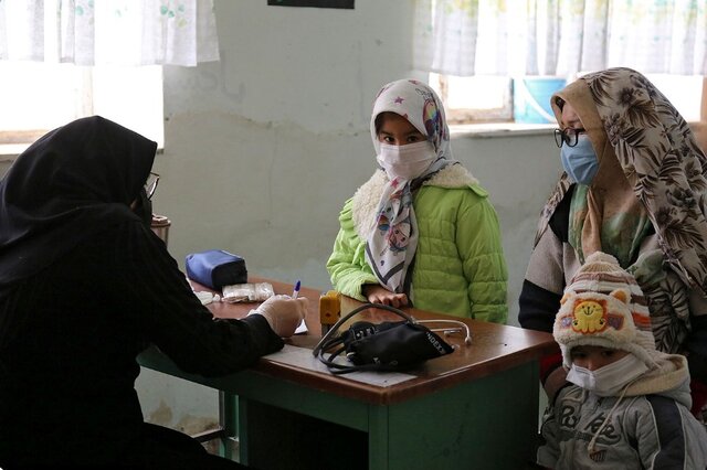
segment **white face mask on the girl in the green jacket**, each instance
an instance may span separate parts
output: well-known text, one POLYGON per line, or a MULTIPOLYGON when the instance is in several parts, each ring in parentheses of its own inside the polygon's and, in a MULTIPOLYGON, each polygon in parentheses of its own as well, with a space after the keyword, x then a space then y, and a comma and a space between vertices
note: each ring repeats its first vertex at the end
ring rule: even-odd
POLYGON ((434 147, 425 140, 407 146, 381 142, 377 160, 391 180, 398 178, 410 181, 422 175, 436 158, 434 147))

